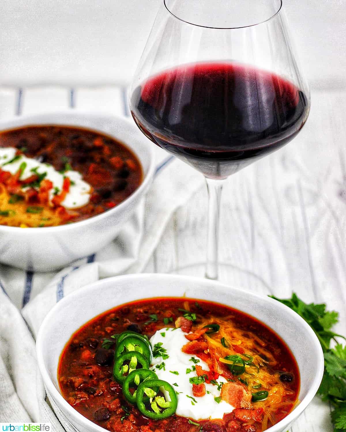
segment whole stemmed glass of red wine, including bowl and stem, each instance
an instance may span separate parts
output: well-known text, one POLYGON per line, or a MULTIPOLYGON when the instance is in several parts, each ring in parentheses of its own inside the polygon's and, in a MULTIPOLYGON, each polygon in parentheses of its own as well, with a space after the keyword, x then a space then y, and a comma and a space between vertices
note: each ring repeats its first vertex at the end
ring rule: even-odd
POLYGON ((206 277, 217 279, 224 180, 292 140, 309 114, 282 0, 163 0, 129 99, 144 135, 205 175, 206 277))

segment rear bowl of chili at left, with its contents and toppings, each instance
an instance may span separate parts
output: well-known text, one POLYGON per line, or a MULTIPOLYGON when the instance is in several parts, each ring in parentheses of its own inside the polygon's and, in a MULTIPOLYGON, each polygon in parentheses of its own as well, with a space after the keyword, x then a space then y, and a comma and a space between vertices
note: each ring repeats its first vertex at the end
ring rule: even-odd
POLYGON ((154 151, 126 118, 65 111, 1 121, 0 165, 0 262, 45 272, 118 235, 151 184, 154 151))

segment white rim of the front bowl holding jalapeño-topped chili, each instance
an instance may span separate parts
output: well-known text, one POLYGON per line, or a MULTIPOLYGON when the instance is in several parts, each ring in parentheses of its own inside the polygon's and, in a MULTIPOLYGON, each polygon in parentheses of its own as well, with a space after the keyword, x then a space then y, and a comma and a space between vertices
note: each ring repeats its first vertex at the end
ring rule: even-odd
MULTIPOLYGON (((195 276, 184 276, 184 275, 175 275, 175 274, 165 274, 165 273, 137 273, 137 274, 127 274, 127 275, 121 275, 121 276, 112 276, 109 278, 101 279, 96 282, 90 283, 86 286, 82 286, 76 291, 72 292, 71 294, 67 295, 63 299, 61 299, 58 303, 56 303, 53 308, 48 312, 48 314, 45 316, 45 318, 42 321, 42 324, 38 330, 38 334, 36 337, 36 354, 37 354, 37 361, 38 361, 38 368, 42 376, 42 380, 51 395, 53 399, 58 399, 59 403, 64 409, 69 413, 69 415, 73 418, 77 418, 78 422, 80 424, 83 424, 88 429, 94 429, 94 431, 98 432, 104 432, 106 429, 97 425, 96 423, 92 422, 91 420, 84 417, 82 414, 80 414, 77 410, 75 410, 73 407, 70 406, 70 404, 67 402, 67 400, 64 399, 64 397, 61 395, 61 393, 58 391, 58 389, 55 387, 53 381, 49 377, 48 370, 45 366, 44 361, 44 346, 42 343, 43 333, 45 331, 45 327, 47 324, 51 321, 52 316, 59 311, 60 308, 64 307, 64 304, 67 302, 73 302, 76 297, 79 297, 82 292, 90 292, 94 289, 97 289, 99 285, 102 285, 105 283, 105 281, 109 281, 109 283, 112 282, 120 282, 124 280, 132 279, 134 281, 138 281, 140 283, 142 280, 150 280, 151 282, 154 282, 154 279, 157 279, 162 283, 162 281, 176 281, 176 283, 179 283, 181 280, 185 280, 187 282, 190 282, 191 284, 215 284, 215 288, 218 289, 221 292, 227 292, 227 290, 236 291, 238 293, 246 293, 247 295, 252 296, 254 299, 266 299, 267 302, 271 303, 272 305, 276 305, 277 308, 281 309, 283 313, 291 315, 292 318, 294 318, 296 321, 300 322, 301 326, 304 328, 305 332, 308 333, 311 340, 314 342, 314 345, 316 346, 318 355, 316 357, 316 373, 314 375, 314 379, 312 383, 310 384, 310 387, 308 388, 307 394, 304 396, 304 398, 300 401, 300 403, 292 410, 291 413, 288 414, 288 416, 284 417, 282 420, 280 420, 278 423, 276 423, 274 426, 271 426, 269 429, 267 429, 267 432, 279 432, 280 430, 285 429, 288 425, 290 425, 295 419, 297 419, 301 413, 305 410, 305 408, 309 405, 315 394, 317 393, 318 388, 320 387, 320 383, 322 381, 322 377, 324 374, 324 355, 322 351, 322 347, 320 345, 320 342, 314 333, 314 330, 309 326, 309 324, 304 321, 303 318, 301 318, 300 315, 298 315, 295 311, 293 311, 291 308, 288 308, 288 306, 284 305, 281 302, 278 302, 277 300, 271 299, 268 296, 260 295, 257 293, 245 291, 240 288, 236 288, 234 286, 229 286, 226 283, 221 283, 219 281, 215 280, 208 280, 200 277, 195 276)), ((145 297, 150 298, 150 297, 145 297)), ((115 305, 116 306, 116 305, 115 305)), ((114 307, 115 307, 114 306, 114 307)), ((109 308, 106 308, 105 311, 109 310, 109 308)), ((102 312, 101 312, 102 313, 102 312)), ((257 318, 259 319, 259 318, 257 318)), ((259 321, 261 321, 259 319, 259 321)), ((78 329, 76 329, 78 330, 78 329)), ((75 331, 76 331, 75 330, 75 331)), ((289 347, 290 348, 290 347, 289 347)), ((66 414, 63 412, 63 414, 66 416, 66 414)))

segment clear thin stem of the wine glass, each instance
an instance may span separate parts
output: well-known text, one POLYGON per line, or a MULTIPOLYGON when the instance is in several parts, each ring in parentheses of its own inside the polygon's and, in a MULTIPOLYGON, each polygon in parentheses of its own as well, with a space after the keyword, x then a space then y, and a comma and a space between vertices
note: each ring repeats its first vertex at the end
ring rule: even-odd
POLYGON ((218 279, 218 243, 220 225, 220 202, 224 180, 205 178, 208 188, 208 237, 205 277, 218 279))

